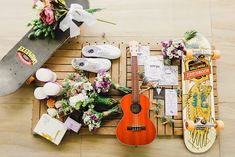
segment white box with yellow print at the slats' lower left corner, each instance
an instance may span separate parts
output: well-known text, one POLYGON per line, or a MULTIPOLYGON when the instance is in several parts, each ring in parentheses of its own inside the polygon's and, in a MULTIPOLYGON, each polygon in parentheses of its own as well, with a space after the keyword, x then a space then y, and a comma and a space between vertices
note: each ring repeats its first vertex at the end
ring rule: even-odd
POLYGON ((67 127, 61 121, 43 114, 38 121, 34 132, 46 138, 47 140, 59 145, 67 131, 67 127))

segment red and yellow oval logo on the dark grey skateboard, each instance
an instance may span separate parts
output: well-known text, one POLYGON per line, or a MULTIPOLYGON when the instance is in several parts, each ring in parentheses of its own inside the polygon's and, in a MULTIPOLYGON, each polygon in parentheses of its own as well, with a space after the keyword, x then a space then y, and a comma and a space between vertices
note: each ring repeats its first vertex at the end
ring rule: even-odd
POLYGON ((34 65, 37 63, 37 58, 35 54, 23 46, 20 46, 18 48, 17 55, 24 64, 34 65))

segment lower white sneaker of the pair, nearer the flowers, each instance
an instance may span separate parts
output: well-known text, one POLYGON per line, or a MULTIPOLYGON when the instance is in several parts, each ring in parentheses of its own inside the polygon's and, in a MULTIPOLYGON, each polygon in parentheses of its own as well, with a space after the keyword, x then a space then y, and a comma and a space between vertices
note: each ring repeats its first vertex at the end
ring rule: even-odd
POLYGON ((100 70, 109 70, 111 62, 108 59, 102 58, 75 58, 72 60, 72 66, 77 70, 98 73, 100 70))

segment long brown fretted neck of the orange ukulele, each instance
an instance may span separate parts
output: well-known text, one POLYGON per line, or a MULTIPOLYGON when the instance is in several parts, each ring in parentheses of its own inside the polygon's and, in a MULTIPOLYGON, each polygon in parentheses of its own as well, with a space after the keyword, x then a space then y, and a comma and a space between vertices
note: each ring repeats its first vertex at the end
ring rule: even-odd
POLYGON ((131 58, 131 72, 132 72, 132 103, 139 103, 139 74, 138 74, 138 63, 137 56, 131 58))

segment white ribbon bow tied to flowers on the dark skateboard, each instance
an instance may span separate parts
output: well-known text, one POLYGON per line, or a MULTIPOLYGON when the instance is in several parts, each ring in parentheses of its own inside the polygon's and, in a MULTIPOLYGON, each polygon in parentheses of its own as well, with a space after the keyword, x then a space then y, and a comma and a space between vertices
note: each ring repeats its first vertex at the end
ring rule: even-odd
POLYGON ((83 7, 80 4, 71 4, 67 15, 59 25, 59 28, 63 32, 70 29, 71 38, 80 35, 80 28, 74 23, 73 20, 77 22, 84 22, 88 26, 93 25, 96 22, 96 18, 92 14, 83 10, 83 7))

